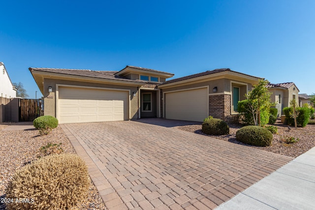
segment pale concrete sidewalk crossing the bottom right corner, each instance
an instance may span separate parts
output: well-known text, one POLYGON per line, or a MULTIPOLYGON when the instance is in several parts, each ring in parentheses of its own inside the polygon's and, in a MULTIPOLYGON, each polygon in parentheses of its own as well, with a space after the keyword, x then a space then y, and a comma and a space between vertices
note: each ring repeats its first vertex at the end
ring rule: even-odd
POLYGON ((314 210, 315 147, 216 210, 314 210))

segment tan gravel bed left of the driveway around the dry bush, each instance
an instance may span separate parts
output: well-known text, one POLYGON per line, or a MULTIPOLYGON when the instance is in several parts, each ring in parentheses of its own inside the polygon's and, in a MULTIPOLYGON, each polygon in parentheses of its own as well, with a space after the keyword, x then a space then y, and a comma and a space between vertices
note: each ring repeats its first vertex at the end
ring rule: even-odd
MULTIPOLYGON (((0 124, 0 196, 5 196, 5 187, 15 170, 35 160, 40 147, 48 143, 59 144, 64 152, 75 153, 69 139, 59 126, 48 135, 38 135, 38 130, 2 131, 12 123, 0 124)), ((0 210, 5 204, 0 203, 0 210)), ((105 205, 91 181, 88 197, 78 204, 78 210, 106 210, 105 205)))

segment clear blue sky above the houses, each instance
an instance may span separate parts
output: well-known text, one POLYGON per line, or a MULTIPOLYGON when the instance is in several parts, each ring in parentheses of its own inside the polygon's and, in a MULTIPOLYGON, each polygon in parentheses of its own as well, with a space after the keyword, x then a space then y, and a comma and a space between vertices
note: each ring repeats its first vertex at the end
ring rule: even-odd
POLYGON ((174 78, 230 68, 311 94, 314 11, 314 0, 6 0, 0 61, 30 98, 39 89, 29 67, 126 65, 174 78))

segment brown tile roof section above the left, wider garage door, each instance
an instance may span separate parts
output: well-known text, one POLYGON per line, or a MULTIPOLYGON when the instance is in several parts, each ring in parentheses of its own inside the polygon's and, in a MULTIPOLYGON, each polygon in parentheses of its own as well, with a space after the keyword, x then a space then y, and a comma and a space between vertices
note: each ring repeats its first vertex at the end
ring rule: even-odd
POLYGON ((76 75, 76 76, 84 76, 84 77, 143 83, 141 81, 130 80, 130 79, 126 79, 125 77, 114 75, 114 73, 116 73, 117 71, 93 71, 90 69, 32 68, 32 67, 30 67, 29 70, 31 72, 35 70, 35 71, 43 71, 43 72, 50 72, 50 73, 60 73, 60 74, 66 74, 66 75, 76 75))

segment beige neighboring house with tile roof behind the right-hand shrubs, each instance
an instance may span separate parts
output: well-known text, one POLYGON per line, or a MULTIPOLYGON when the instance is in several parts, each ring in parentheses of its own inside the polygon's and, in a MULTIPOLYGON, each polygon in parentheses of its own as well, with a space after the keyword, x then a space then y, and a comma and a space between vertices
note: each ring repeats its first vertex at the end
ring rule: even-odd
POLYGON ((299 89, 292 82, 290 83, 280 83, 280 84, 271 84, 267 85, 267 88, 271 94, 271 101, 276 102, 276 108, 278 109, 277 117, 283 115, 284 107, 290 106, 290 101, 296 99, 298 102, 299 89))

